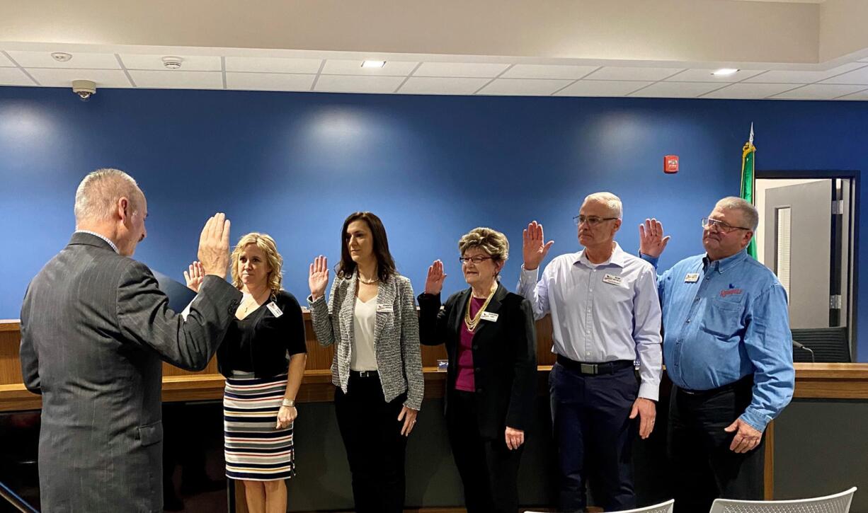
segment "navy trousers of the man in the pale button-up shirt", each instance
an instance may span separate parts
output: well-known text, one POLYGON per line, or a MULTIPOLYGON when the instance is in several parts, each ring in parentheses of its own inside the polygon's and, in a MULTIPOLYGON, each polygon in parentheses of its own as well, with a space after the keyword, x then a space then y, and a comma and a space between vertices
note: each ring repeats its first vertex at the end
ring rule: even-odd
POLYGON ((584 375, 561 364, 549 373, 551 418, 560 470, 559 507, 587 505, 585 479, 607 511, 635 508, 630 411, 639 393, 633 368, 584 375))

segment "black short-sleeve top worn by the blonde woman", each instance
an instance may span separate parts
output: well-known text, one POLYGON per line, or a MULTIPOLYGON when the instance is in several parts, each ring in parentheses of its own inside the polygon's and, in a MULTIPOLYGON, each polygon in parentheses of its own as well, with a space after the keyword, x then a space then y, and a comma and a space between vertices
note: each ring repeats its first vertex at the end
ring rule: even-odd
POLYGON ((300 352, 307 352, 301 306, 280 291, 244 319, 233 319, 217 349, 217 368, 227 378, 233 371, 271 378, 285 374, 287 359, 300 352))

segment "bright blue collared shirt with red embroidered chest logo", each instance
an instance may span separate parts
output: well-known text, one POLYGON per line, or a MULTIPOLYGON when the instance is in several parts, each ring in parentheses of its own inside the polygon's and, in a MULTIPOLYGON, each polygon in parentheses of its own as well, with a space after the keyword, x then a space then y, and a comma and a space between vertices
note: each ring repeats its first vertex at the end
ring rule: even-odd
POLYGON ((709 390, 753 374, 753 401, 740 418, 764 431, 795 388, 786 291, 777 276, 746 251, 716 261, 696 255, 659 276, 657 287, 669 378, 709 390))

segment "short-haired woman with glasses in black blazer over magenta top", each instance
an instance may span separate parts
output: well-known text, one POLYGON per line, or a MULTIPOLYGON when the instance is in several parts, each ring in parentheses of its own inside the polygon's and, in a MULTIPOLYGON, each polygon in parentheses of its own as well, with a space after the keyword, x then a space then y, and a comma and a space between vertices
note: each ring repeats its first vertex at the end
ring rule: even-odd
POLYGON ((536 329, 529 302, 497 281, 503 233, 476 228, 458 241, 464 280, 440 308, 437 260, 419 295, 419 338, 449 354, 445 414, 469 513, 518 510, 518 464, 536 395, 536 329))

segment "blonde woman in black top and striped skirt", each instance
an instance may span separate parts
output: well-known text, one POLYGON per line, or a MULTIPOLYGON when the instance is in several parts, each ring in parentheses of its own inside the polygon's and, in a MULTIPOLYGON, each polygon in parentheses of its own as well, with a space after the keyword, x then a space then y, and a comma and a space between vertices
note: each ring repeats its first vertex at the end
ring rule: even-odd
MULTIPOLYGON (((286 511, 295 474, 295 396, 306 365, 305 325, 292 294, 280 289, 283 258, 265 233, 247 233, 232 253, 232 280, 244 297, 217 350, 223 395, 226 475, 244 483, 247 510, 286 511), (287 365, 288 360, 288 365, 287 365)), ((203 273, 189 266, 187 286, 203 273)))

